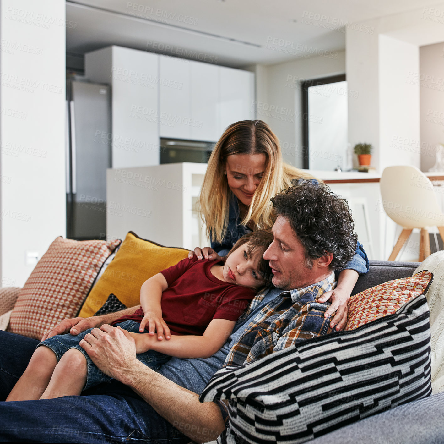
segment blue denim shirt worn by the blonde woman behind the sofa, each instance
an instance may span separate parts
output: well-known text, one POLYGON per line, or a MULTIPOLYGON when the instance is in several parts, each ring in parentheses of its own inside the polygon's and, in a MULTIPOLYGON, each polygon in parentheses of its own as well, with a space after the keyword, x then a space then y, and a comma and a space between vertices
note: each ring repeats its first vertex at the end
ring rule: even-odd
MULTIPOLYGON (((312 180, 312 182, 315 184, 318 183, 317 180, 312 180)), ((241 225, 240 222, 241 218, 238 198, 234 196, 234 194, 231 194, 226 235, 221 243, 211 242, 211 248, 213 248, 213 250, 220 256, 225 256, 242 236, 251 231, 248 227, 241 225)), ((336 270, 336 272, 338 273, 345 269, 355 270, 359 274, 365 274, 369 271, 369 259, 367 253, 359 242, 356 244, 356 252, 352 260, 350 260, 344 268, 336 270)))

